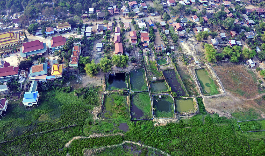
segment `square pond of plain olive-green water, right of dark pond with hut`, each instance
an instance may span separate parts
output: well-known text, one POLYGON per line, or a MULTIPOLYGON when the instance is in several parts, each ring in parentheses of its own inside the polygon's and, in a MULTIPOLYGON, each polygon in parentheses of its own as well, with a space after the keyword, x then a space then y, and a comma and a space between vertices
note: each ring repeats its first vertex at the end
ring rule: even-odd
POLYGON ((175 98, 174 100, 177 114, 189 114, 197 110, 195 98, 175 98))

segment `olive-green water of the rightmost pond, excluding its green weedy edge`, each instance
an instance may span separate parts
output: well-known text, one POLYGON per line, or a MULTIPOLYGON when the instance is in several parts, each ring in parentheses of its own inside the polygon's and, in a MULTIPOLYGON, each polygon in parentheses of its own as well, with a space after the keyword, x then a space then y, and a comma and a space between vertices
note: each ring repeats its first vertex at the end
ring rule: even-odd
POLYGON ((196 70, 197 77, 200 81, 202 88, 204 88, 208 93, 210 93, 210 87, 209 85, 211 84, 209 76, 206 74, 205 69, 199 69, 196 70))

